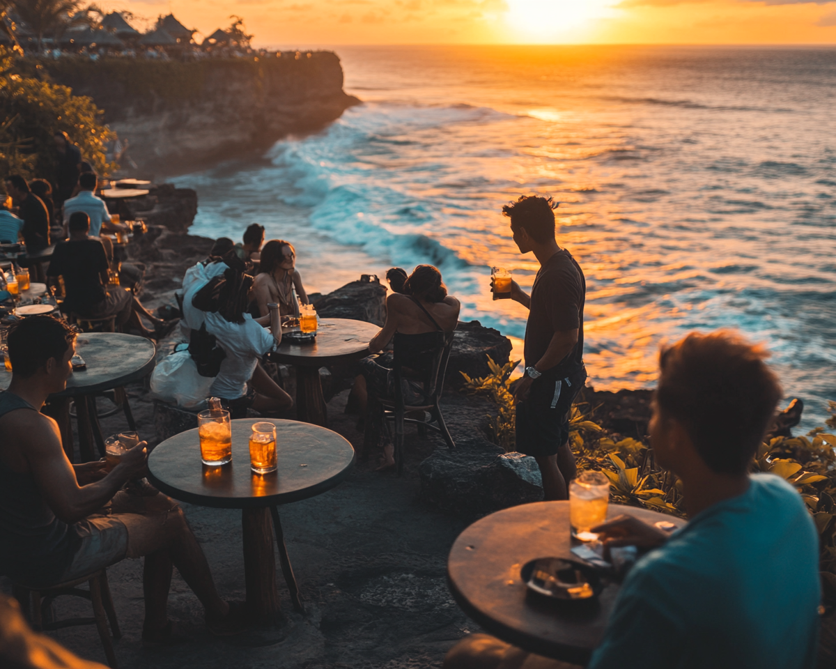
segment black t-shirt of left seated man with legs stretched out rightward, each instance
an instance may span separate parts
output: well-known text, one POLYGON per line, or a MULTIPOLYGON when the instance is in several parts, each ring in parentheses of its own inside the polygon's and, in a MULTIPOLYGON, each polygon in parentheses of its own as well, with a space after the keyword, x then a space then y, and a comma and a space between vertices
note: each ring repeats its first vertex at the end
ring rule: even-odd
POLYGON ((59 243, 47 274, 63 276, 67 306, 85 312, 104 299, 106 291, 99 275, 108 268, 104 246, 95 237, 88 237, 59 243))

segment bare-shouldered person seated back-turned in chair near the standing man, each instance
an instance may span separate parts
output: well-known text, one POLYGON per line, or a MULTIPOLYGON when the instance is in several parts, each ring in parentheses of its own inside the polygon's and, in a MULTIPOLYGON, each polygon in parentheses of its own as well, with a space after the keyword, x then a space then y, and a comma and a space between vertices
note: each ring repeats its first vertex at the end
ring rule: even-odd
MULTIPOLYGON (((452 332, 459 322, 461 304, 458 299, 447 294, 447 288, 441 281, 441 272, 432 265, 419 265, 406 279, 404 294, 393 293, 386 298, 386 322, 383 329, 372 337, 369 350, 373 353, 384 350, 395 333, 402 335, 423 335, 428 332, 452 332)), ((360 360, 363 376, 355 381, 355 386, 364 384, 359 390, 365 395, 365 388, 375 396, 391 397, 392 354, 370 355, 360 360)), ((408 380, 404 400, 409 404, 424 404, 426 399, 421 384, 408 380)), ((384 447, 384 462, 379 469, 395 466, 395 447, 384 447)))

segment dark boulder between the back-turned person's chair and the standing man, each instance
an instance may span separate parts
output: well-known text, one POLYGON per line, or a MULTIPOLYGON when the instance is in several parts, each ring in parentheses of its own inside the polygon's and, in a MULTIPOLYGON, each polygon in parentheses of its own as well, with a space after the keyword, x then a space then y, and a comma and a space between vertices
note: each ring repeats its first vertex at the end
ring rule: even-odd
POLYGON ((461 372, 472 379, 490 374, 488 355, 497 365, 505 365, 511 355, 511 340, 498 329, 484 327, 478 320, 459 321, 447 363, 445 384, 461 388, 465 382, 461 372))

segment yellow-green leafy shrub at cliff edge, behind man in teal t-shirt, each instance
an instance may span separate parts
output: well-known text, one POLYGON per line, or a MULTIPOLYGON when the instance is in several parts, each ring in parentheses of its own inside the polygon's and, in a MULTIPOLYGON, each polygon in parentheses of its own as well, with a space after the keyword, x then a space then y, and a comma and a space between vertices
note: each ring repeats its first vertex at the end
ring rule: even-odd
MULTIPOLYGON (((517 362, 497 365, 488 357, 491 373, 472 379, 464 372, 467 392, 490 398, 498 409, 488 416, 492 442, 514 450, 514 406, 511 373, 517 362)), ((580 401, 572 407, 569 446, 579 472, 592 469, 609 478, 614 503, 650 508, 684 518, 682 483, 658 467, 653 449, 637 439, 620 438, 589 420, 597 407, 580 401)), ((828 428, 836 428, 836 402, 829 402, 828 428)), ((758 448, 752 472, 769 472, 791 483, 807 505, 819 536, 819 569, 824 599, 836 604, 836 435, 817 427, 803 437, 775 437, 758 448)))

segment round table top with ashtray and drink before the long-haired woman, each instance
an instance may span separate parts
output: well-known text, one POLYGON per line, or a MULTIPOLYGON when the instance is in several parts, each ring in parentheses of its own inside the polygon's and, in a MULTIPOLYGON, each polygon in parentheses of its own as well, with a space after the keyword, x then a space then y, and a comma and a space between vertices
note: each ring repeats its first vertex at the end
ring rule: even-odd
POLYGON ((316 339, 309 344, 283 340, 272 358, 276 362, 304 367, 324 367, 347 357, 369 354, 369 341, 380 327, 363 320, 319 319, 316 339))

